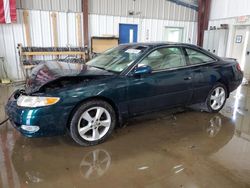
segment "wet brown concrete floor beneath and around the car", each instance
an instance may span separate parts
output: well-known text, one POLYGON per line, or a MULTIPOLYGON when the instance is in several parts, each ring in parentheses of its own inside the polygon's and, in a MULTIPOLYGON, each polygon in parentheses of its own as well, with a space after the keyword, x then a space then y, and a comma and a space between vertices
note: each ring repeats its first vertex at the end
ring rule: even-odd
MULTIPOLYGON (((14 90, 0 86, 0 121, 14 90)), ((98 146, 69 136, 24 138, 0 127, 0 187, 250 187, 250 87, 218 114, 161 112, 130 121, 98 146)))

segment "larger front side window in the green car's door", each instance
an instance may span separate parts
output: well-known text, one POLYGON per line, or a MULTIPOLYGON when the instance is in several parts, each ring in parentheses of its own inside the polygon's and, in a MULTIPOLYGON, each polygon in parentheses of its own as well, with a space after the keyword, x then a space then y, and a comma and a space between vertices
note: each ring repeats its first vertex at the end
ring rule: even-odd
POLYGON ((160 48, 150 53, 138 66, 150 66, 153 71, 186 66, 185 56, 180 48, 160 48))

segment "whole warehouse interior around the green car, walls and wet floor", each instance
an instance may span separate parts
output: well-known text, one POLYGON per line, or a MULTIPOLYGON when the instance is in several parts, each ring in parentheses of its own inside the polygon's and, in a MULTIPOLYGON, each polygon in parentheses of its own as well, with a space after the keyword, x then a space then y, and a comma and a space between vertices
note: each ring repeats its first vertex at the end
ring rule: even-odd
POLYGON ((0 0, 0 187, 250 187, 248 81, 248 0, 0 0), (40 65, 72 72, 118 45, 156 42, 237 61, 243 81, 218 113, 143 114, 94 146, 12 126, 6 105, 40 65))

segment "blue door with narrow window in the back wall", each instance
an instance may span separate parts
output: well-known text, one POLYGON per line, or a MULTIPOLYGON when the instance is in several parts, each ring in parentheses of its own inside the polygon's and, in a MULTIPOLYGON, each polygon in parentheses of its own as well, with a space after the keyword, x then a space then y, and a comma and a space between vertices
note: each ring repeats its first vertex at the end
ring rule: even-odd
POLYGON ((119 24, 119 43, 137 42, 138 25, 119 24))

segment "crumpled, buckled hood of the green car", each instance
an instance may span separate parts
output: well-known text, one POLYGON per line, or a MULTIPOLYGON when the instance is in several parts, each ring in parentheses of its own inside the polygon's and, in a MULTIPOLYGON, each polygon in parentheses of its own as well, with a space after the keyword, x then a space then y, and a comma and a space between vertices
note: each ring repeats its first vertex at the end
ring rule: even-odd
POLYGON ((57 61, 48 61, 35 67, 26 83, 26 93, 31 94, 39 91, 44 85, 60 78, 108 76, 114 73, 90 67, 85 64, 75 64, 57 61))

